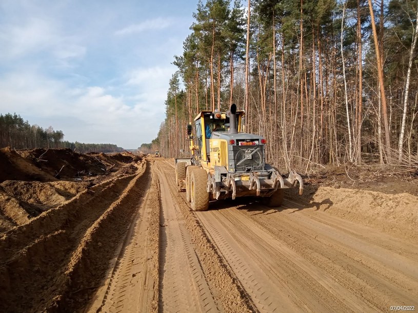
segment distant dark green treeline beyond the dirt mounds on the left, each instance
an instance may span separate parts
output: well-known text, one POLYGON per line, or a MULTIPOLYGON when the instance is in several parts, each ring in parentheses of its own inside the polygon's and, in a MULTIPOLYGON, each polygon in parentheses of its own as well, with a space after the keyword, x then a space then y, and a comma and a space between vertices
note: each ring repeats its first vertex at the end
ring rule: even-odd
POLYGON ((33 148, 70 148, 77 153, 88 152, 121 152, 124 149, 110 143, 82 143, 64 140, 62 131, 55 131, 52 126, 43 129, 30 125, 16 113, 0 114, 0 148, 12 149, 33 148))

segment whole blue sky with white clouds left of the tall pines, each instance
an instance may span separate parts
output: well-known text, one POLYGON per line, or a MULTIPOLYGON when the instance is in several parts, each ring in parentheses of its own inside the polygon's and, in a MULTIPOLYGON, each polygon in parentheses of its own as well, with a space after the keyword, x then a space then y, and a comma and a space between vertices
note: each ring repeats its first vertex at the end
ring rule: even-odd
POLYGON ((0 113, 136 149, 165 118, 197 0, 1 0, 0 113))

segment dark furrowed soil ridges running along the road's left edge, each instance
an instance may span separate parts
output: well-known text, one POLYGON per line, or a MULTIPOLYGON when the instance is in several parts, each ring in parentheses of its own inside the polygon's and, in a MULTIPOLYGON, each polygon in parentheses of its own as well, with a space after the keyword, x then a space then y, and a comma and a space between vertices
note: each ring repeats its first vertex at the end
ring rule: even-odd
MULTIPOLYGON (((0 236, 2 311, 72 312, 87 303, 147 186, 149 168, 140 170, 92 186, 0 236)), ((76 184, 52 186, 75 192, 76 184)))

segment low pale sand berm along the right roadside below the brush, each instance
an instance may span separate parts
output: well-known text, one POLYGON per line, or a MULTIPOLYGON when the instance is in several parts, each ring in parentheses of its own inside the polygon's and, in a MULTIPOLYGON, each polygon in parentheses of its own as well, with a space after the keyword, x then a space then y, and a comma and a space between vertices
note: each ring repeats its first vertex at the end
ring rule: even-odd
POLYGON ((385 194, 360 189, 306 185, 304 194, 287 191, 306 207, 379 229, 403 239, 418 239, 418 197, 409 193, 385 194))

